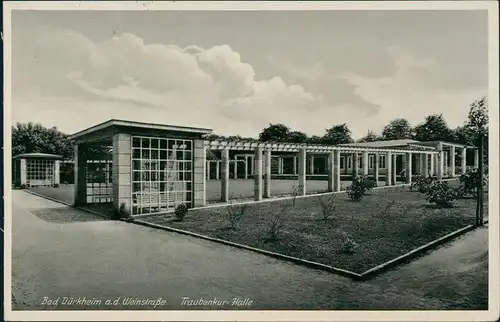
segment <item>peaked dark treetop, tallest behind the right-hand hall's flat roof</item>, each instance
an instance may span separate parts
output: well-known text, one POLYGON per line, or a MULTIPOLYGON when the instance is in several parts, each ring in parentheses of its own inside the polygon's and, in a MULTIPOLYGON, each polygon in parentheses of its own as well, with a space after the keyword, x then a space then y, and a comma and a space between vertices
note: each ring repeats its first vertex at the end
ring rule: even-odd
POLYGON ((452 141, 453 131, 448 127, 443 114, 431 114, 414 129, 418 141, 452 141))

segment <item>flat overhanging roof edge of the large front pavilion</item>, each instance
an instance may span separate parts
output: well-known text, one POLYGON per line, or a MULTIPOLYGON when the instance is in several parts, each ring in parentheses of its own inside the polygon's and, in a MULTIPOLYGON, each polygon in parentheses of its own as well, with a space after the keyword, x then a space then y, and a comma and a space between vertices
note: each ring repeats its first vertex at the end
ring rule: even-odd
POLYGON ((94 125, 85 130, 79 131, 77 133, 71 134, 69 138, 71 140, 79 138, 84 135, 88 135, 94 132, 102 131, 110 127, 130 127, 139 128, 143 130, 156 130, 156 131, 175 131, 175 132, 185 132, 185 133, 196 133, 196 134, 211 134, 212 129, 198 128, 198 127, 188 127, 188 126, 177 126, 177 125, 167 125, 167 124, 155 124, 155 123, 144 123, 126 120, 116 120, 111 119, 109 121, 94 125))

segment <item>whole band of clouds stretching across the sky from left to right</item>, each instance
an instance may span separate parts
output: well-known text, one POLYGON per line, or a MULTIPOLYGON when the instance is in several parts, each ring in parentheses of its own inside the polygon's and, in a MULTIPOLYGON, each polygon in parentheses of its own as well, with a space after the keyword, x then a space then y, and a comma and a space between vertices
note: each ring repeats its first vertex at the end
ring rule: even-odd
MULTIPOLYGON (((243 136, 256 136, 269 123, 309 135, 348 123, 360 137, 395 117, 415 124, 436 111, 458 125, 468 104, 485 92, 448 88, 437 81, 441 62, 401 46, 385 51, 394 69, 382 76, 344 73, 328 60, 311 67, 284 61, 265 79, 256 77, 248 56, 227 44, 179 47, 168 37, 150 43, 133 33, 90 39, 30 26, 14 30, 12 46, 13 120, 67 132, 121 118, 243 136)), ((445 69, 447 78, 450 71, 445 69)))

